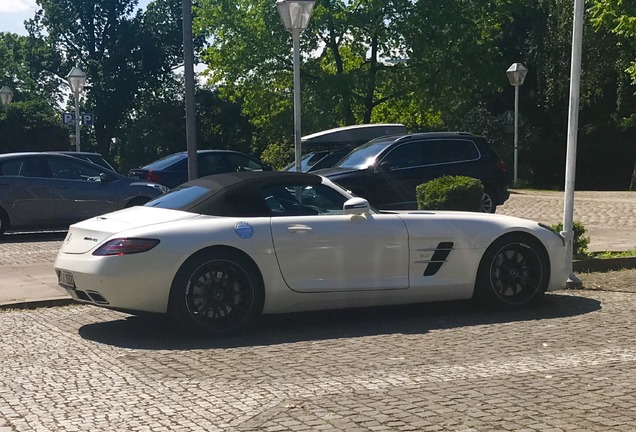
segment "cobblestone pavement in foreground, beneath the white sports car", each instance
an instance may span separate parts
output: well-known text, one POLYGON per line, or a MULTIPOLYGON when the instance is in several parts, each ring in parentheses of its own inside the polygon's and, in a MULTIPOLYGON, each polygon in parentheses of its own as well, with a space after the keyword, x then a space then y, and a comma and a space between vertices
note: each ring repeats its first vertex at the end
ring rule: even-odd
POLYGON ((635 281, 516 313, 272 316, 224 339, 92 306, 0 311, 0 432, 633 431, 635 281))

